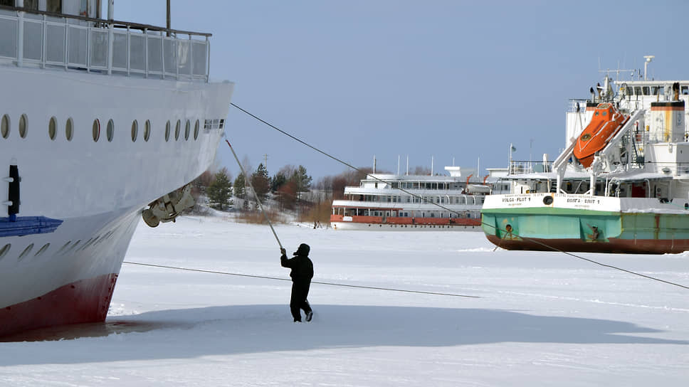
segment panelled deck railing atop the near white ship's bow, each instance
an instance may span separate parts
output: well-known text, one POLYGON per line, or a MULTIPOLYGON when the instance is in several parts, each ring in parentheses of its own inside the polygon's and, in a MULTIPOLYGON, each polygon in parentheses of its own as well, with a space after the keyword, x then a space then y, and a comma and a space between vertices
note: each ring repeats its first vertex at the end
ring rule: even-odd
POLYGON ((0 61, 19 67, 208 82, 210 36, 0 6, 0 61))

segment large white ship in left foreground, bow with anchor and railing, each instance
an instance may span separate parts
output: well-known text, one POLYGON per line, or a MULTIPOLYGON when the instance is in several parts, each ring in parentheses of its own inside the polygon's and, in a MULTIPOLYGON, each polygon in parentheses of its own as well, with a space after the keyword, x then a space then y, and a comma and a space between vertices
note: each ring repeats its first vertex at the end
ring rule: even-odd
POLYGON ((104 321, 144 206, 173 220, 222 137, 210 34, 113 3, 0 0, 0 335, 104 321))

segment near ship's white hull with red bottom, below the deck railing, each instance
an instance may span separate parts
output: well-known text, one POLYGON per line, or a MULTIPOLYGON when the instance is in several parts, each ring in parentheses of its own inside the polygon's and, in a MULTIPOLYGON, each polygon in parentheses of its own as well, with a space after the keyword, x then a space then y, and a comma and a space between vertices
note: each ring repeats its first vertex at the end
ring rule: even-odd
MULTIPOLYGON (((0 335, 103 321, 140 211, 211 165, 223 134, 217 123, 226 118, 233 84, 14 67, 0 68, 0 84, 0 117, 10 120, 9 135, 0 137, 0 170, 19 169, 17 216, 61 222, 52 232, 0 237, 0 335), (19 135, 22 115, 25 138, 19 135), (58 123, 55 139, 49 135, 51 117, 58 123), (94 120, 100 122, 97 142, 94 120), (206 120, 215 124, 206 129, 206 120), (144 141, 147 121, 151 130, 144 141)), ((3 181, 0 201, 8 198, 3 181)))

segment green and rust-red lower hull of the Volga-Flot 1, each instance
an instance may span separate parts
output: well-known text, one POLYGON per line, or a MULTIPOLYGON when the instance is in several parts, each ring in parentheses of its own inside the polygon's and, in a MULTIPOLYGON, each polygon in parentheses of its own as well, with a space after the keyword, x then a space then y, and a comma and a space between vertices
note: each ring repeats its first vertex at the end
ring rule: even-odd
POLYGON ((681 253, 689 250, 689 215, 574 208, 484 208, 483 231, 507 250, 681 253))

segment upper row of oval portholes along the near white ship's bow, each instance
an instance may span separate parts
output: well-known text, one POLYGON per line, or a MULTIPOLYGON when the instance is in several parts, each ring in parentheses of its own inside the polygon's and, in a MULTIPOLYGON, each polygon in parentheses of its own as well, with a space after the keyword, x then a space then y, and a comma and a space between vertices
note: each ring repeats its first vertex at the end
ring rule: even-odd
MULTIPOLYGON (((209 127, 212 127, 214 129, 222 129, 224 127, 225 120, 205 120, 205 122, 211 122, 211 125, 209 127), (216 122, 216 124, 213 124, 213 122, 216 122)), ((143 133, 142 133, 142 138, 144 139, 144 142, 148 142, 149 138, 151 137, 151 132, 152 132, 152 127, 153 124, 151 120, 146 120, 143 125, 143 133)), ((204 125, 204 129, 206 126, 204 125)), ((50 120, 48 120, 48 138, 51 140, 55 141, 58 138, 58 132, 60 132, 61 129, 61 122, 58 121, 56 117, 51 117, 50 120)), ((191 132, 191 121, 186 120, 184 122, 184 131, 182 131, 182 120, 177 120, 177 122, 174 123, 174 140, 177 141, 180 139, 180 137, 184 136, 184 140, 187 141, 189 140, 189 137, 192 136, 191 132)), ((12 131, 12 122, 11 122, 11 117, 9 115, 3 115, 2 118, 0 119, 0 136, 4 139, 9 138, 10 134, 12 131)), ((19 117, 19 123, 17 125, 17 132, 19 133, 19 137, 25 139, 27 134, 28 134, 28 117, 26 114, 23 114, 19 117)), ((69 117, 67 120, 65 120, 64 124, 64 136, 67 141, 72 141, 74 138, 74 132, 75 132, 75 125, 74 125, 74 120, 69 117)), ((91 125, 91 136, 93 138, 94 142, 98 142, 100 139, 101 135, 101 124, 100 124, 100 119, 96 118, 93 120, 93 124, 91 125)), ((194 131, 193 131, 193 137, 194 139, 199 138, 199 132, 200 132, 200 121, 196 120, 194 123, 194 131)), ((137 120, 132 121, 132 126, 130 130, 132 142, 136 142, 137 139, 139 138, 139 122, 137 120)), ((167 123, 165 124, 165 141, 169 142, 170 138, 172 137, 172 123, 168 120, 167 123)), ((105 127, 105 137, 108 142, 112 142, 112 139, 115 138, 115 121, 110 119, 107 121, 106 127, 105 127)))

